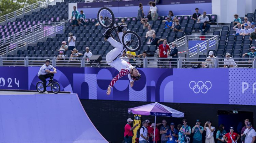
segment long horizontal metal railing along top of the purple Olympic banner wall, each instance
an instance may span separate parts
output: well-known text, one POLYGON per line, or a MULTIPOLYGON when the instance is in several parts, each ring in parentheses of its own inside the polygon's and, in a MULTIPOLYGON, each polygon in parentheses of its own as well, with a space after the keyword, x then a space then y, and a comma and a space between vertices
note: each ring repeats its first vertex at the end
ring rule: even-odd
MULTIPOLYGON (((58 67, 110 67, 106 58, 102 58, 100 63, 93 63, 88 58, 74 58, 70 60, 57 60, 56 57, 0 57, 0 66, 42 66, 45 59, 49 58, 53 66, 58 67)), ((134 67, 144 68, 256 68, 256 59, 233 58, 235 64, 225 63, 225 58, 213 58, 207 61, 206 58, 129 58, 129 63, 134 67)))

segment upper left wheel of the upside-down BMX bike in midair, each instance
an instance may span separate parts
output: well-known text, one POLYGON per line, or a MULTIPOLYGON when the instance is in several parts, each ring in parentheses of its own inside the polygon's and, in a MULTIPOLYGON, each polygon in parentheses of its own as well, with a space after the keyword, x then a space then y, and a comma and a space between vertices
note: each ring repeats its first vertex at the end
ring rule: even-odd
POLYGON ((104 28, 108 28, 114 25, 114 21, 115 21, 114 13, 108 7, 100 8, 100 10, 98 11, 97 18, 98 18, 99 24, 104 28), (100 16, 103 17, 102 21, 100 20, 100 16))

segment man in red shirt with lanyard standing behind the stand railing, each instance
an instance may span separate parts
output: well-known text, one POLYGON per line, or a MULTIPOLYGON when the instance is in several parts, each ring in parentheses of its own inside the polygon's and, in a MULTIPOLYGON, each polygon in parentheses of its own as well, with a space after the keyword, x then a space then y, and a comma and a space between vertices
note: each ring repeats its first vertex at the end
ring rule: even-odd
POLYGON ((163 39, 164 43, 158 46, 158 57, 166 58, 166 59, 159 59, 159 65, 163 66, 164 61, 167 61, 167 56, 170 54, 170 47, 167 45, 167 40, 163 39))

